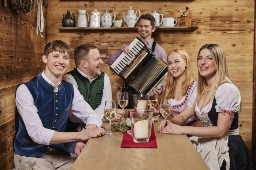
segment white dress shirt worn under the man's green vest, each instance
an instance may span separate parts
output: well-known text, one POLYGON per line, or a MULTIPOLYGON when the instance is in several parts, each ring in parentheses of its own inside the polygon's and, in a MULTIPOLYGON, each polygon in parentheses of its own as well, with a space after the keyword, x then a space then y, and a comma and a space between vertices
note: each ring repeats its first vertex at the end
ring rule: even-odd
MULTIPOLYGON (((80 71, 78 68, 76 68, 77 71, 86 79, 88 79, 90 81, 90 77, 88 75, 86 75, 85 73, 83 73, 82 71, 80 71)), ((92 81, 94 79, 96 79, 97 77, 94 77, 92 79, 92 81)), ((62 76, 62 79, 64 81, 67 81, 69 83, 72 83, 76 89, 78 89, 78 85, 76 83, 76 80, 74 79, 74 77, 71 74, 64 74, 62 76)), ((90 82, 92 82, 90 81, 90 82)), ((111 84, 110 84, 110 79, 108 77, 108 75, 105 73, 104 75, 104 87, 103 87, 103 95, 102 95, 102 99, 101 99, 101 103, 100 105, 94 110, 96 115, 102 119, 104 116, 104 107, 105 107, 105 101, 110 101, 112 100, 112 91, 111 91, 111 84)), ((79 119, 77 119, 76 117, 74 117, 73 114, 69 114, 69 118, 72 122, 79 122, 82 123, 79 119)))

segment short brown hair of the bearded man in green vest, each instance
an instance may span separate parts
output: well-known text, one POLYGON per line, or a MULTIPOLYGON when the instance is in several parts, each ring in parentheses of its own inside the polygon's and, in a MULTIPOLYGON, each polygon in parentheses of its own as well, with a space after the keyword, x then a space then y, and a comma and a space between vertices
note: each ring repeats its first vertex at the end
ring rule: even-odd
POLYGON ((90 49, 96 49, 97 47, 92 44, 83 44, 79 45, 74 50, 74 59, 76 63, 76 67, 78 67, 81 63, 81 60, 84 59, 88 61, 88 54, 90 49))

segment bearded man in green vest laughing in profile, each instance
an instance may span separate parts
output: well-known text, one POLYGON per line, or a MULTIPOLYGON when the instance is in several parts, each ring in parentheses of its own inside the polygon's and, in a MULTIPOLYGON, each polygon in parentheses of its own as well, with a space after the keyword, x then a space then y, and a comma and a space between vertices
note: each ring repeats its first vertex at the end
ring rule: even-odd
MULTIPOLYGON (((112 91, 108 75, 100 70, 104 64, 100 58, 100 51, 95 45, 79 45, 74 49, 74 59, 76 68, 66 73, 62 79, 75 85, 97 116, 103 121, 107 121, 104 119, 104 105, 105 101, 112 100, 112 91)), ((117 109, 114 120, 122 118, 123 115, 124 111, 117 109)), ((82 123, 80 119, 70 114, 66 131, 80 131, 85 125, 79 123, 82 123)), ((76 142, 76 146, 74 143, 71 145, 66 145, 66 147, 71 153, 79 155, 84 147, 84 142, 76 142)))

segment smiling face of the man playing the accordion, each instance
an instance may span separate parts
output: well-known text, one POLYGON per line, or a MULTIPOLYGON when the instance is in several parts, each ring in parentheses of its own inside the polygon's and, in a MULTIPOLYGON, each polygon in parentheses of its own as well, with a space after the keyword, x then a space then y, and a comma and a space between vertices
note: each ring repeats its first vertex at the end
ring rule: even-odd
POLYGON ((156 27, 151 26, 150 20, 140 19, 138 24, 138 32, 140 34, 140 38, 144 39, 145 41, 151 39, 152 32, 156 30, 156 27))

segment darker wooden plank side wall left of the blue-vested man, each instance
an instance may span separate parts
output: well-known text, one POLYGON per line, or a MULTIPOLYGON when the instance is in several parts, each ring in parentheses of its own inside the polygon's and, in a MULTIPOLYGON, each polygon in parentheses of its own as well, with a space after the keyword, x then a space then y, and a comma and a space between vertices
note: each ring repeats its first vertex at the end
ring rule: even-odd
POLYGON ((0 0, 0 169, 14 165, 16 87, 44 69, 41 58, 45 44, 46 38, 36 35, 36 19, 3 7, 0 0))

